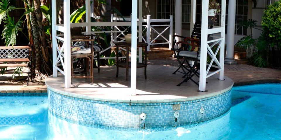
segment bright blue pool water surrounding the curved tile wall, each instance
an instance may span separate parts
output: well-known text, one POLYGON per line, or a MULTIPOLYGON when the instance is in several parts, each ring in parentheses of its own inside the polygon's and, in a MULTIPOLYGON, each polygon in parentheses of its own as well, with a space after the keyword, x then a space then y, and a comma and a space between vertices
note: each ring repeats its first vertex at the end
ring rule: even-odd
POLYGON ((0 139, 281 139, 281 84, 234 87, 232 107, 196 126, 119 131, 96 129, 61 120, 47 109, 47 97, 0 97, 0 139))

